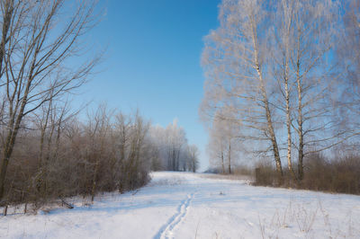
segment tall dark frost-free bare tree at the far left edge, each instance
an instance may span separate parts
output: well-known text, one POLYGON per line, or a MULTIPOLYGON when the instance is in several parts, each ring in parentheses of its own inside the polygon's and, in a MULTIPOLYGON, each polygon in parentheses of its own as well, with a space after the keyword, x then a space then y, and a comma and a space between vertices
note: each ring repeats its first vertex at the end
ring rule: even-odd
POLYGON ((67 67, 81 52, 81 36, 94 26, 94 1, 8 0, 1 4, 1 92, 7 129, 0 163, 0 199, 23 118, 83 84, 98 61, 94 57, 67 67))

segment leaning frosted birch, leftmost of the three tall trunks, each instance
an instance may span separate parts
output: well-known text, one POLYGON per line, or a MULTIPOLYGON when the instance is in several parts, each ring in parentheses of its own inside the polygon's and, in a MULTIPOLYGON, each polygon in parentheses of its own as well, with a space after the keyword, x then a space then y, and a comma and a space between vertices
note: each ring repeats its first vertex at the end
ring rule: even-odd
POLYGON ((213 117, 211 111, 233 109, 247 128, 242 137, 268 140, 281 181, 283 169, 269 94, 273 79, 268 72, 267 16, 264 1, 224 0, 220 4, 220 27, 206 37, 202 52, 207 77, 202 114, 213 117))

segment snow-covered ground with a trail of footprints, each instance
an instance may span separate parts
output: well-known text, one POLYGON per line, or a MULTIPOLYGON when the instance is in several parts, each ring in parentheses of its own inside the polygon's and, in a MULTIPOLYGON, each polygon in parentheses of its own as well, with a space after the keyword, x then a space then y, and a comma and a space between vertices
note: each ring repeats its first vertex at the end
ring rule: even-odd
POLYGON ((360 238, 360 197, 153 173, 139 191, 91 207, 0 216, 6 238, 360 238))

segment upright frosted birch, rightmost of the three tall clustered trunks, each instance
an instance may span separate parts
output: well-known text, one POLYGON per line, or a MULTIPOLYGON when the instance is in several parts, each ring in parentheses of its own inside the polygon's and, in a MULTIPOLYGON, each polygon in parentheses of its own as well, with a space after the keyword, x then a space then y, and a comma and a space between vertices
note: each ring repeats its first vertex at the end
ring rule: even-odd
MULTIPOLYGON (((329 61, 329 54, 334 47, 338 2, 284 3, 282 8, 287 9, 287 19, 291 22, 282 39, 286 49, 285 67, 290 68, 291 85, 295 86, 291 90, 296 89, 297 94, 297 111, 287 111, 287 117, 292 114, 297 119, 293 128, 298 135, 298 177, 302 180, 304 155, 333 146, 334 138, 344 134, 335 132, 338 120, 331 118, 336 96, 331 90, 338 85, 338 77, 333 75, 334 65, 329 61)), ((291 121, 289 118, 287 122, 291 121)))

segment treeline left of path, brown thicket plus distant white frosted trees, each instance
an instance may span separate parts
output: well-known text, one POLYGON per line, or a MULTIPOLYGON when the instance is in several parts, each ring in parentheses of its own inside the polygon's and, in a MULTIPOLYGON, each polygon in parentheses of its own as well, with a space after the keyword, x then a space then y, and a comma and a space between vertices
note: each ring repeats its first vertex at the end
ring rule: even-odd
POLYGON ((98 192, 143 186, 151 170, 196 171, 197 148, 187 146, 176 123, 152 127, 139 111, 126 115, 103 105, 86 117, 66 105, 43 106, 38 117, 23 121, 5 178, 6 203, 94 200, 98 192))

